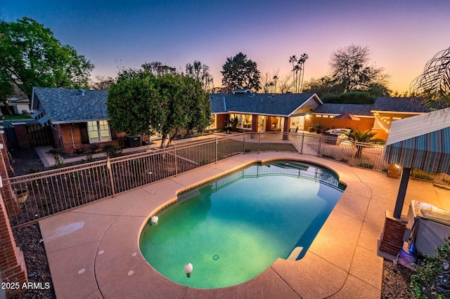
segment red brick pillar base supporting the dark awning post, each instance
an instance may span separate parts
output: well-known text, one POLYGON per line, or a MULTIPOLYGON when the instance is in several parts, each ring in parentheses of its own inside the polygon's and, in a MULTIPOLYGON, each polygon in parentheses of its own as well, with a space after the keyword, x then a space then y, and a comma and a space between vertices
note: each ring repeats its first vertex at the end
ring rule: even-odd
POLYGON ((381 234, 380 251, 397 255, 403 246, 406 223, 394 218, 392 212, 386 211, 385 227, 381 234))

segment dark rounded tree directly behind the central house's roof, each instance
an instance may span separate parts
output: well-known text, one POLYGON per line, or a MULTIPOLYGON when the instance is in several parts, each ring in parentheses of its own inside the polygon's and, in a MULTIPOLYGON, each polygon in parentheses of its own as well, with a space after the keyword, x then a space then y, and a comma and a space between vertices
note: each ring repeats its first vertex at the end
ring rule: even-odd
POLYGON ((258 91, 261 85, 261 73, 256 62, 248 59, 242 52, 232 58, 226 58, 221 74, 222 85, 229 86, 231 89, 250 88, 252 91, 258 91))

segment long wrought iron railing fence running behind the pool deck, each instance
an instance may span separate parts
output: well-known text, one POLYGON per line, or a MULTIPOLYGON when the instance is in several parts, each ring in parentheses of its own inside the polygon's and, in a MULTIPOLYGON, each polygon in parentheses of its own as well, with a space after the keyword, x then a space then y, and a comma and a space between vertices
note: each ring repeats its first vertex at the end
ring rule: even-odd
POLYGON ((150 182, 248 152, 298 152, 375 171, 387 170, 384 147, 308 133, 240 133, 3 180, 11 226, 111 197, 150 182), (15 208, 11 208, 11 203, 15 208))

